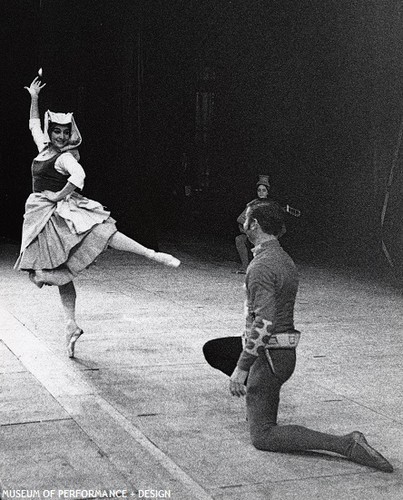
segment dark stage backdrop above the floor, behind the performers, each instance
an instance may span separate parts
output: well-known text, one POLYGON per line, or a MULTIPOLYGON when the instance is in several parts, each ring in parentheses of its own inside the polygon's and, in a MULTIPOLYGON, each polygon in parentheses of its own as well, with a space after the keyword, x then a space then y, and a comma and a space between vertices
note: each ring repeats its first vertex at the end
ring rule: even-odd
POLYGON ((400 1, 0 8, 1 236, 20 237, 35 155, 23 86, 42 67, 41 112, 74 111, 84 138, 84 194, 138 241, 231 240, 268 173, 302 211, 289 222, 294 250, 357 264, 388 254, 402 269, 400 1))

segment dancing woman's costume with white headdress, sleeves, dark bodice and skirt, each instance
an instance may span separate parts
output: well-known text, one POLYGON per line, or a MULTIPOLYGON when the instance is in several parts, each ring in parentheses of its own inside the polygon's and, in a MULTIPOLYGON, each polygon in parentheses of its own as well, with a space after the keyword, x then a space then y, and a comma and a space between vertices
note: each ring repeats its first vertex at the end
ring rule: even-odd
POLYGON ((33 192, 24 214, 20 256, 15 268, 41 271, 50 285, 64 285, 87 268, 107 248, 117 229, 110 213, 96 201, 77 192, 54 203, 42 193, 57 192, 67 182, 84 187, 85 173, 78 163, 81 135, 72 113, 45 113, 29 127, 39 154, 32 163, 33 192), (71 124, 69 143, 60 152, 50 147, 49 123, 71 124))

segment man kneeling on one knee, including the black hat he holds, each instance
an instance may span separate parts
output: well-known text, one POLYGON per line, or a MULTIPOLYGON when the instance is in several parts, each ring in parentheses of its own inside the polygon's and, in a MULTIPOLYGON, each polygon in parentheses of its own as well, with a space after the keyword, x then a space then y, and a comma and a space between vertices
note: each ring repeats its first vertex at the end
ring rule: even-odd
POLYGON ((391 464, 359 431, 336 436, 299 425, 277 424, 281 386, 294 372, 300 337, 294 328, 297 270, 278 242, 283 224, 284 211, 276 202, 248 207, 244 230, 254 244, 254 258, 245 278, 244 343, 236 337, 215 339, 204 346, 204 355, 214 368, 226 374, 233 369, 230 392, 238 397, 246 395, 250 435, 259 450, 330 451, 358 464, 392 472, 391 464))

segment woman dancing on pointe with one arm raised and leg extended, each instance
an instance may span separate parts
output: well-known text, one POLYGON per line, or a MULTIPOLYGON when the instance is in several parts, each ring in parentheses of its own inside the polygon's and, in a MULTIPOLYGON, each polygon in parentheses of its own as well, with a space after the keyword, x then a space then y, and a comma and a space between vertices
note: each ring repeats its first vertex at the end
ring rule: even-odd
POLYGON ((47 111, 42 130, 38 98, 44 86, 35 78, 25 87, 31 95, 29 127, 39 154, 32 163, 33 193, 25 205, 21 252, 15 268, 28 271, 39 288, 59 287, 67 320, 67 350, 72 358, 75 343, 83 334, 76 322, 73 279, 108 246, 172 267, 178 267, 180 261, 120 233, 100 203, 76 192, 83 189, 85 179, 78 163, 81 134, 72 113, 47 111))

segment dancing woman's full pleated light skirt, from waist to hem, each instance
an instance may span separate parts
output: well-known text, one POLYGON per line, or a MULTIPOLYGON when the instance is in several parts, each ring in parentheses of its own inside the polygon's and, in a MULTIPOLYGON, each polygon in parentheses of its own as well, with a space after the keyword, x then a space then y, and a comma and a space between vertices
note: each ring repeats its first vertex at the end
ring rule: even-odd
POLYGON ((14 267, 67 271, 74 278, 106 250, 116 231, 116 221, 98 202, 74 193, 54 204, 34 193, 26 203, 21 253, 14 267))

